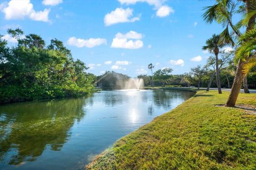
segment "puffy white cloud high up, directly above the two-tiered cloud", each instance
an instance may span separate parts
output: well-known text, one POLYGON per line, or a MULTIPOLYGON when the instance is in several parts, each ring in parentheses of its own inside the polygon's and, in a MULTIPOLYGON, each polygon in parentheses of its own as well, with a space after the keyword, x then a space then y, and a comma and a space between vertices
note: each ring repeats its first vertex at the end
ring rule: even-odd
POLYGON ((131 8, 127 8, 126 10, 123 8, 116 8, 115 11, 111 11, 105 15, 104 23, 106 26, 109 26, 116 23, 139 21, 139 17, 132 18, 132 12, 131 8))

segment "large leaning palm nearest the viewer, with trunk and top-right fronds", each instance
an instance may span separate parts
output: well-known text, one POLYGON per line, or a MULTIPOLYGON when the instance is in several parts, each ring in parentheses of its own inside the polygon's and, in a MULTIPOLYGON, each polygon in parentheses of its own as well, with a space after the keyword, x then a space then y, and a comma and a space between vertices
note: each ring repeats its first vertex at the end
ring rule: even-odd
MULTIPOLYGON (((207 23, 212 23, 213 21, 217 21, 219 24, 222 24, 225 30, 222 31, 221 37, 225 39, 226 42, 234 45, 234 40, 236 38, 241 37, 242 33, 239 28, 242 26, 246 27, 245 33, 255 28, 255 18, 256 18, 256 2, 255 0, 243 0, 239 1, 242 3, 241 6, 236 7, 238 4, 233 0, 216 0, 216 3, 213 6, 205 7, 205 13, 203 14, 203 19, 207 23), (237 10, 237 8, 239 10, 237 10), (244 16, 241 21, 237 24, 234 24, 233 15, 237 12, 242 13, 244 16), (229 33, 229 28, 232 29, 234 35, 229 33), (234 38, 235 36, 235 38, 234 38)), ((246 40, 244 40, 246 41, 246 40)), ((251 50, 250 50, 251 51, 251 50)), ((246 72, 244 72, 243 67, 247 62, 250 61, 250 53, 245 53, 243 56, 238 57, 237 61, 237 69, 235 74, 235 79, 231 88, 231 92, 226 103, 227 107, 234 107, 236 104, 236 100, 238 94, 240 92, 242 81, 246 76, 246 72)), ((237 58, 237 56, 235 56, 237 58)))

